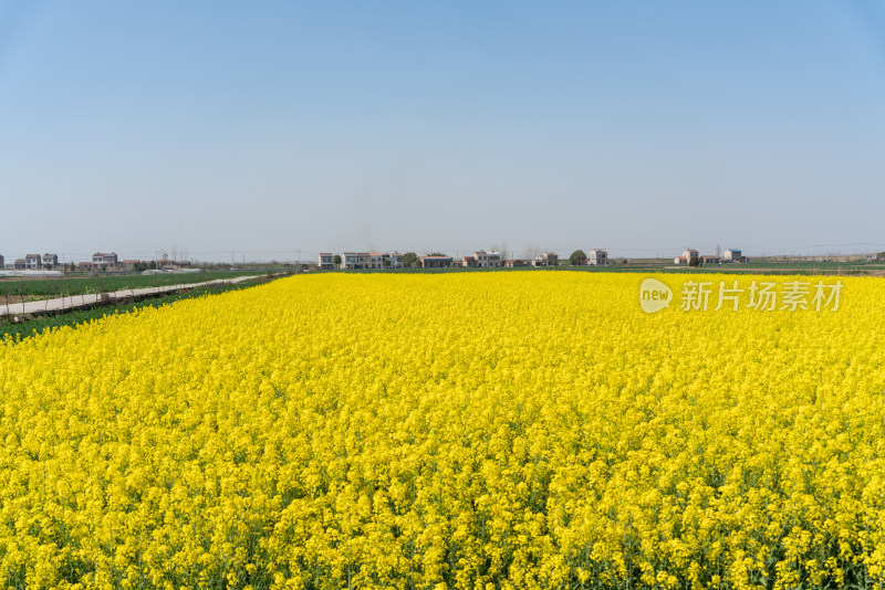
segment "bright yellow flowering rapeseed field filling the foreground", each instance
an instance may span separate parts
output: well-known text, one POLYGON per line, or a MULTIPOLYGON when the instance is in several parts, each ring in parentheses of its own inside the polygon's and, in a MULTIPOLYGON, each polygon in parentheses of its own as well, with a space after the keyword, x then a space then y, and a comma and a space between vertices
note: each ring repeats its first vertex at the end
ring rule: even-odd
POLYGON ((6 338, 0 580, 883 588, 885 281, 656 274, 645 313, 648 276, 317 273, 6 338))

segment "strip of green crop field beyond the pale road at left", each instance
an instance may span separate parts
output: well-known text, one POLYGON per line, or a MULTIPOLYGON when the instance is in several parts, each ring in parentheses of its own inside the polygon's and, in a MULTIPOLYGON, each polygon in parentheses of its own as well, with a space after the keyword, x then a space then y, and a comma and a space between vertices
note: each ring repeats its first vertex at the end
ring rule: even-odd
POLYGON ((261 271, 207 271, 181 274, 112 274, 64 278, 0 278, 0 304, 6 303, 7 298, 14 303, 21 302, 22 298, 24 301, 48 299, 92 293, 111 293, 127 288, 185 285, 202 281, 260 274, 262 274, 261 271))

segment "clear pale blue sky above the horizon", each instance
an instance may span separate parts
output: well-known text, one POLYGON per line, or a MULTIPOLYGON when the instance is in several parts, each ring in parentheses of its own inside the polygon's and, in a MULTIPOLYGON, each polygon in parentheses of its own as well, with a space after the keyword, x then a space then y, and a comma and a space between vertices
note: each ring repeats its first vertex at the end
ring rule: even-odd
POLYGON ((885 250, 879 2, 0 0, 0 254, 885 250))

